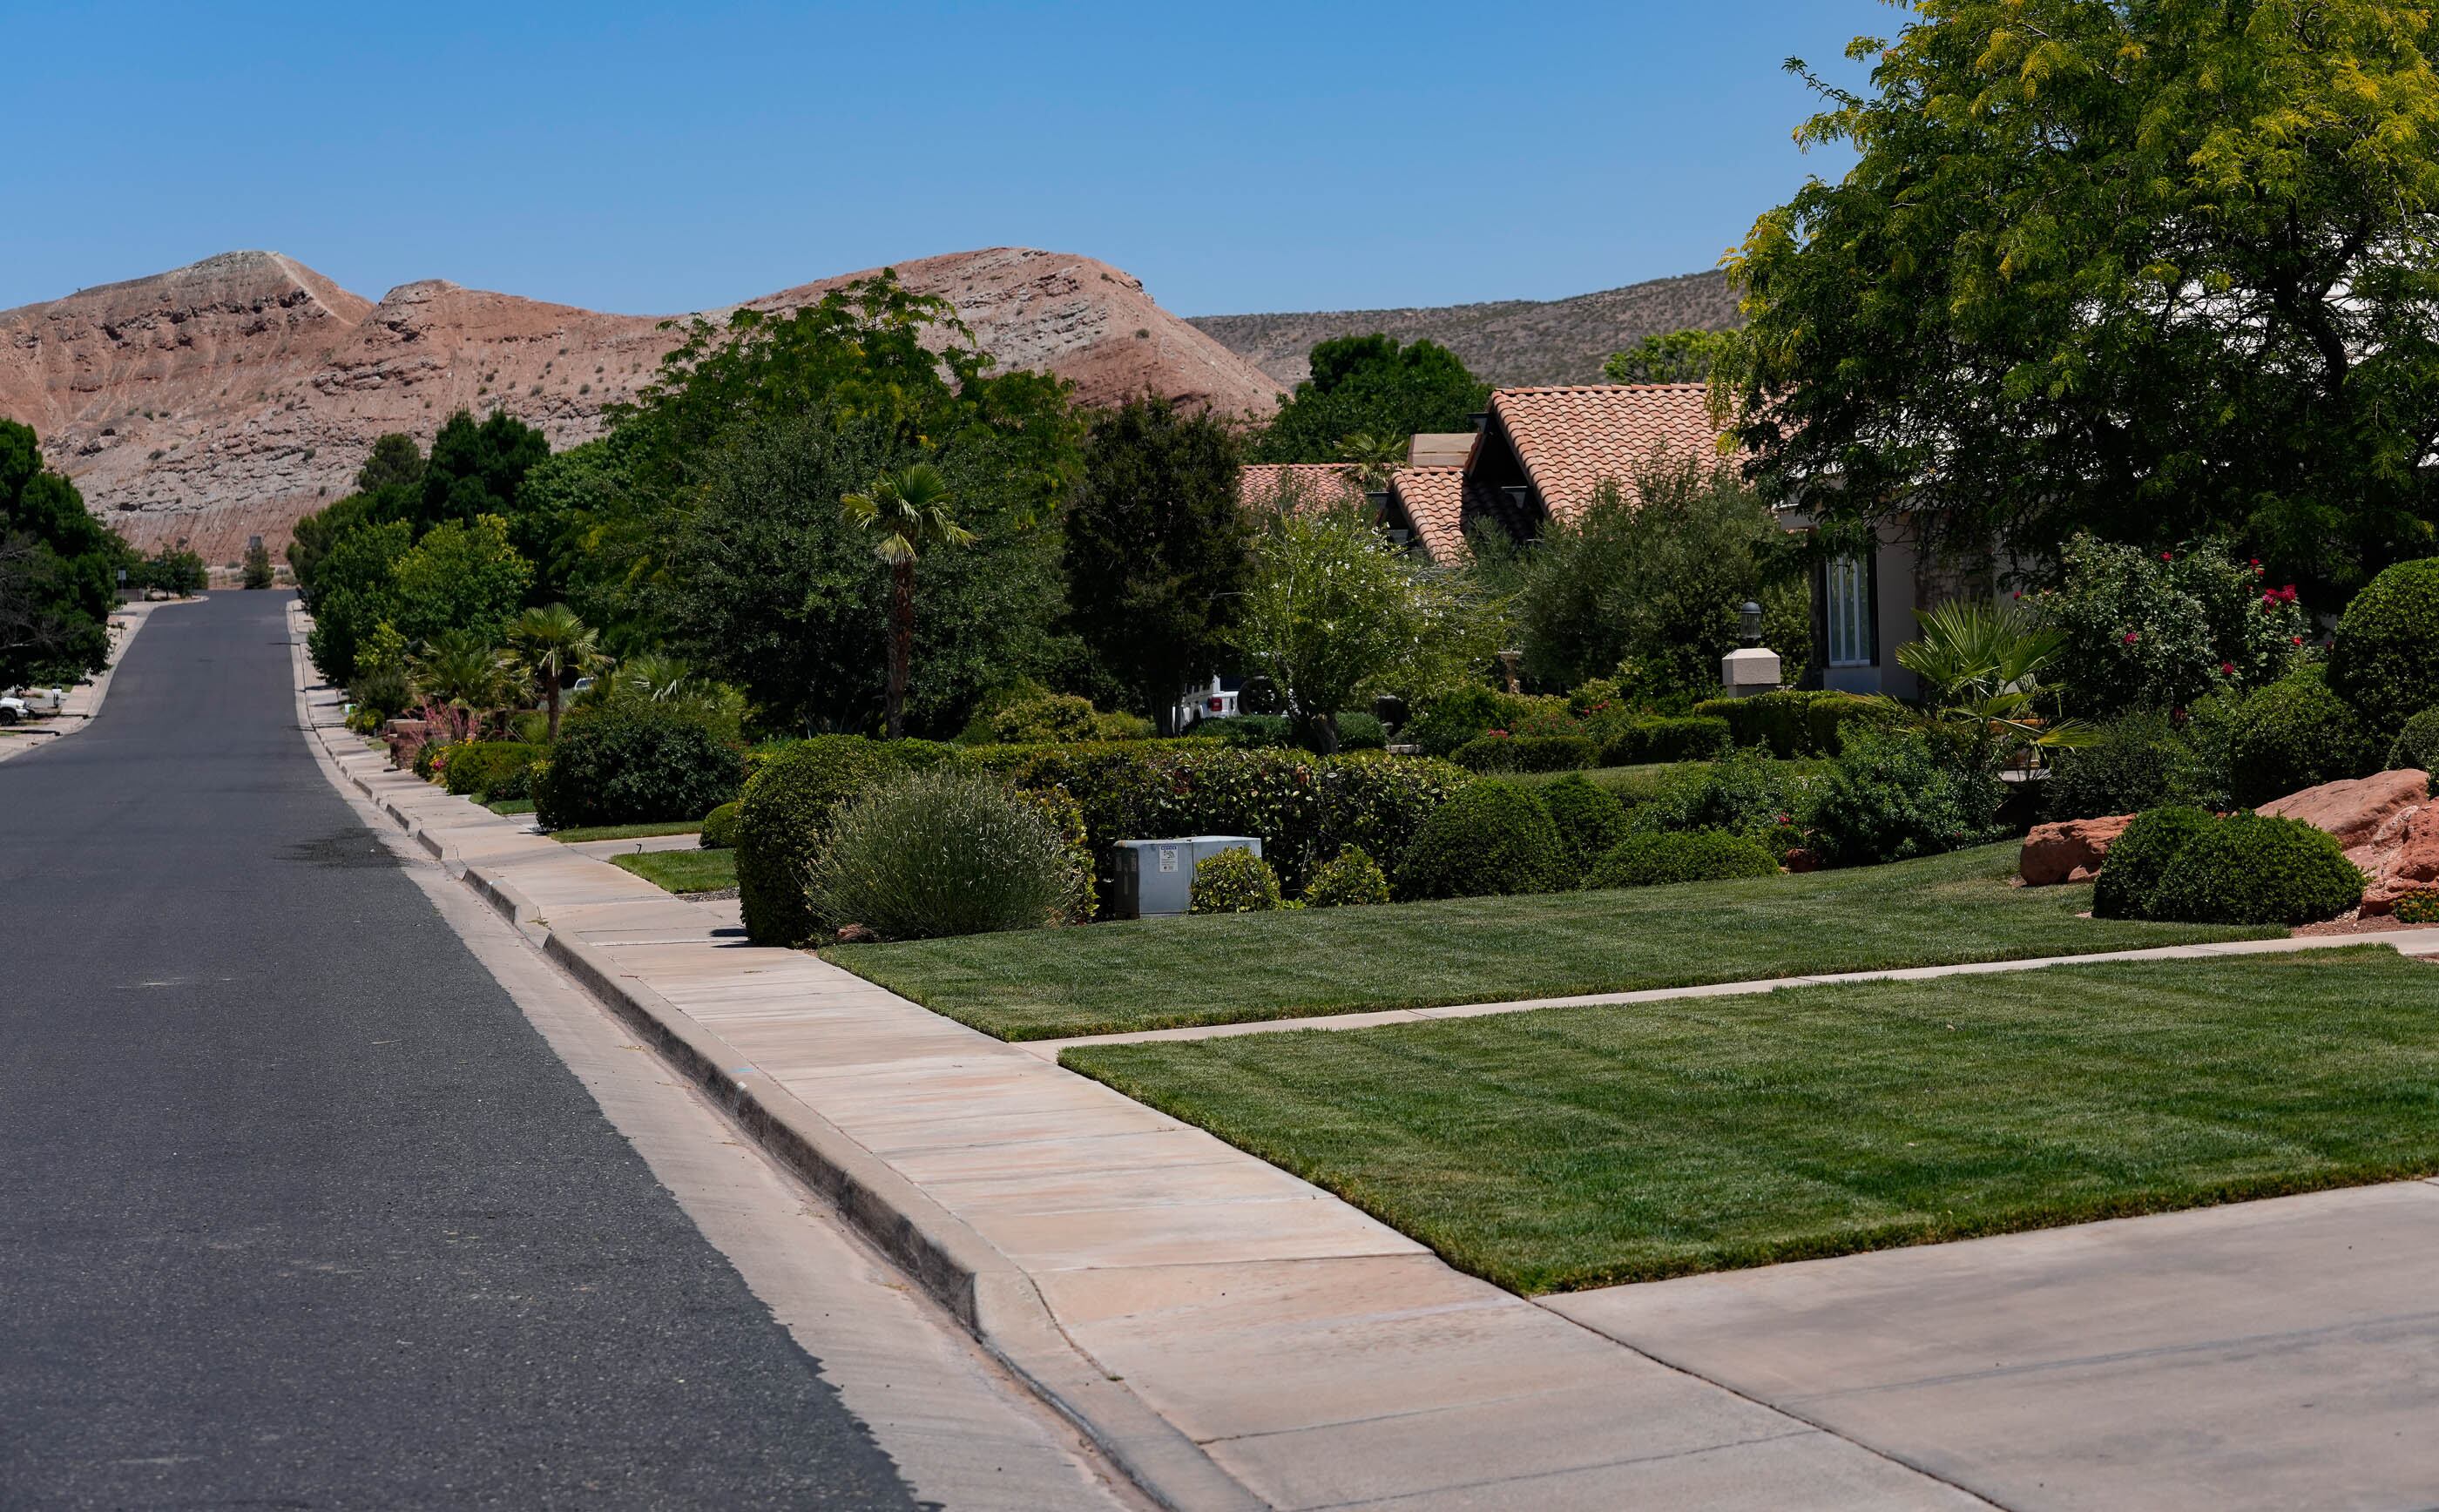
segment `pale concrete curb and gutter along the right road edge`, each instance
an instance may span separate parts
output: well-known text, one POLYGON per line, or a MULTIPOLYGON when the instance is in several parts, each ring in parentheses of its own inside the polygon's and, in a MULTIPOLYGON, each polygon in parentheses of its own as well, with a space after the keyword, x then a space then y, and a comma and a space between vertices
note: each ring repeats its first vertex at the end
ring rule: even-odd
POLYGON ((444 871, 534 936, 568 978, 712 1097, 771 1158, 822 1193, 890 1261, 922 1283, 993 1358, 1073 1422, 1149 1497, 1176 1512, 1268 1507, 1183 1429, 1095 1366, 1051 1317, 1032 1275, 998 1246, 785 1088, 741 1066, 744 1056, 734 1046, 620 971, 605 951, 537 924, 539 910, 512 880, 488 866, 468 863, 429 824, 380 797, 366 778, 346 773, 327 727, 312 722, 305 690, 300 666, 298 724, 327 758, 324 773, 334 785, 356 788, 444 871))

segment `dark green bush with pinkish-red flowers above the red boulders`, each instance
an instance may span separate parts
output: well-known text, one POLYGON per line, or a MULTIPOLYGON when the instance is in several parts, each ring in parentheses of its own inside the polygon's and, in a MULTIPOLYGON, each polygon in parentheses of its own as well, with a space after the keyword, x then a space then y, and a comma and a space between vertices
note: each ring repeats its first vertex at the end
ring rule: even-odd
POLYGON ((2139 551, 2078 534, 2061 583, 2024 595, 2041 624, 2066 634, 2073 710, 2180 710, 2219 688, 2261 688, 2295 663, 2310 617, 2293 585, 2222 541, 2139 551))

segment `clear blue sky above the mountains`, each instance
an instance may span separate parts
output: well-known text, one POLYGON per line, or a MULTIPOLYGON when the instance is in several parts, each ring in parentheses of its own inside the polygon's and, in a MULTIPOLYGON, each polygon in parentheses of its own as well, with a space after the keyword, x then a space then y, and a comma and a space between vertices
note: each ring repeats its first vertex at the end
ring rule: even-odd
POLYGON ((1880 0, 0 0, 0 307, 268 246, 680 312, 973 246, 1180 315, 1712 266, 1807 173, 1880 0))

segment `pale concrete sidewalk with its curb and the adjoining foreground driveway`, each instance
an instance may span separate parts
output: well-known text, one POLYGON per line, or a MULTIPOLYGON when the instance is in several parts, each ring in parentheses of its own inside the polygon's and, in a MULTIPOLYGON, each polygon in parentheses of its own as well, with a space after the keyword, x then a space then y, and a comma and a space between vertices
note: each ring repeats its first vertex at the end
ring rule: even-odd
POLYGON ((2222 1412, 2280 1468, 2212 1473, 2207 1505, 2417 1505, 2439 1485, 2432 1449, 2395 1436, 2400 1414, 2439 1407, 2429 1327, 2400 1305, 2359 1319, 2388 1327, 2385 1344, 2332 1336, 2322 1356, 2341 1371, 2351 1349, 2388 1351, 2378 1414, 2280 1417, 2280 1356, 2251 1363, 2241 1346, 2217 1356, 2210 1402, 2146 1400, 2159 1378, 2107 1412, 2076 1410, 2073 1393, 1946 1385, 2022 1358, 2017 1341, 2039 1341, 2044 1361, 2107 1356, 2127 1346, 2129 1312, 2149 1341, 2132 1346, 2166 1353, 2324 1327, 2329 1278, 2344 1275, 2332 1244, 2359 1244, 2356 1273, 2402 1295, 2429 1273, 2432 1234, 2378 1214, 2419 1214, 2417 1183, 1537 1305, 1024 1046, 817 956, 749 946, 734 905, 676 900, 388 771, 332 729, 334 695, 307 680, 300 661, 307 724, 344 780, 1166 1505, 2202 1505, 2188 1495, 2207 1458, 2193 1434, 2222 1412), (2324 1222, 2298 1227, 2302 1212, 2324 1222), (2173 1227, 2185 1219, 2207 1222, 2173 1227), (2144 1258, 2112 1271, 2093 1253, 2144 1258), (1812 1280, 1832 1266, 1837 1285, 1812 1280), (1917 1314, 1917 1290, 1937 1307, 1917 1314))

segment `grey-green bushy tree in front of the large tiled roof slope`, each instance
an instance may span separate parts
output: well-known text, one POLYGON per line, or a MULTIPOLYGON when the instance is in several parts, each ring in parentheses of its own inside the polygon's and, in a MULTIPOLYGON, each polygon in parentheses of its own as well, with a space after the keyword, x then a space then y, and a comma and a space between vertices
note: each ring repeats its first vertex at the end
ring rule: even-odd
POLYGON ((1515 563, 1524 671, 1549 688, 1619 678, 1654 702, 1719 688, 1737 610, 1759 597, 1763 634, 1790 666, 1810 615, 1788 534, 1732 466, 1656 456, 1632 493, 1602 483, 1515 563))

